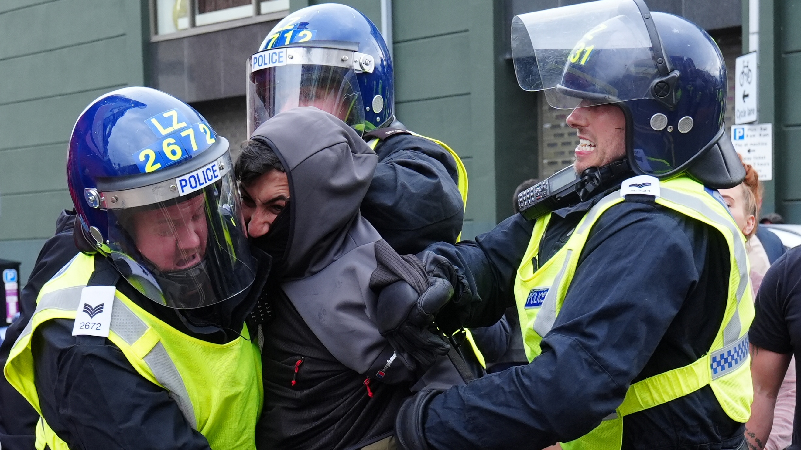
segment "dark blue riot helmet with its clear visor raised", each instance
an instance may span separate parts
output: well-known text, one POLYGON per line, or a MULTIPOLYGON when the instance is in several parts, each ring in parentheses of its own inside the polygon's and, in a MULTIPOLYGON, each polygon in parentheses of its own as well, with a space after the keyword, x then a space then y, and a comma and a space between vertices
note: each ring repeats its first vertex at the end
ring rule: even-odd
POLYGON ((634 172, 686 171, 710 187, 742 181, 723 124, 726 65, 694 23, 642 0, 602 0, 521 14, 512 30, 523 89, 544 90, 557 108, 622 108, 634 172))

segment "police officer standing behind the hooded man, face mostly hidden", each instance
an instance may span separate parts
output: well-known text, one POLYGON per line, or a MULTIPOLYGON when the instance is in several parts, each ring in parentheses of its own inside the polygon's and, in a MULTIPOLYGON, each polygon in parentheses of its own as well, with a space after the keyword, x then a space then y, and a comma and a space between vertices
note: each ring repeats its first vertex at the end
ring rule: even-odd
POLYGON ((401 254, 456 242, 467 200, 465 167, 445 143, 396 120, 389 50, 364 14, 337 3, 289 14, 248 60, 248 74, 248 135, 296 106, 336 115, 378 155, 361 214, 380 235, 401 254))

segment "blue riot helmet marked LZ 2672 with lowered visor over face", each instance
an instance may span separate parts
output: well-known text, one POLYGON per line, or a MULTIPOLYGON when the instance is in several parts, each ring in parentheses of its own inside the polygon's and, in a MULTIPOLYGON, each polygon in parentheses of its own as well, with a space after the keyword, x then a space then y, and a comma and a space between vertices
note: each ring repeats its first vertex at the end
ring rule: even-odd
POLYGON ((66 164, 76 243, 167 307, 229 299, 255 278, 228 142, 168 94, 127 87, 75 123, 66 164))

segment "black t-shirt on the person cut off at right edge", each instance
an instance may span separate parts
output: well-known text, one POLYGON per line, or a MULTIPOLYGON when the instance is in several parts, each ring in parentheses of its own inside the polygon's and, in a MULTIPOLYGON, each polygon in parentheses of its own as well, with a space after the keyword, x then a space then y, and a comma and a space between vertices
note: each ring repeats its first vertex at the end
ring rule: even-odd
MULTIPOLYGON (((795 354, 795 370, 801 373, 801 247, 787 251, 765 274, 756 296, 756 316, 748 332, 751 344, 775 353, 795 354)), ((795 393, 795 424, 801 424, 795 393)), ((793 444, 801 448, 801 429, 794 427, 793 444)))

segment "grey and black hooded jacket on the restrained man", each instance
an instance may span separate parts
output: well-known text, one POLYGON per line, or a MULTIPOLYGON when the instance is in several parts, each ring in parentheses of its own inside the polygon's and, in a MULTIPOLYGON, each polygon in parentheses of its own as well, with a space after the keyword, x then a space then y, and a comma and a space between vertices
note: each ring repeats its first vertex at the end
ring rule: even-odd
POLYGON ((359 208, 378 157, 352 128, 313 107, 276 115, 252 139, 276 152, 290 188, 286 248, 268 283, 275 318, 263 327, 257 442, 361 448, 391 434, 415 380, 378 332, 368 287, 381 237, 359 208))

